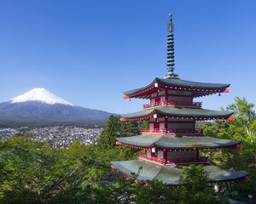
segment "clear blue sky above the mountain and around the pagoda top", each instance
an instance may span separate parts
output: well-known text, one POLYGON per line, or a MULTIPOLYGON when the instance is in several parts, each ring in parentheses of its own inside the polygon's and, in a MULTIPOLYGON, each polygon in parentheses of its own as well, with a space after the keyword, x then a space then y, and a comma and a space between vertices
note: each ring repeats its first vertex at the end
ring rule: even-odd
POLYGON ((231 83, 230 94, 195 101, 216 110, 235 96, 256 103, 255 10, 253 0, 3 0, 0 101, 44 87, 88 108, 142 109, 147 100, 122 92, 165 76, 172 13, 179 77, 231 83))

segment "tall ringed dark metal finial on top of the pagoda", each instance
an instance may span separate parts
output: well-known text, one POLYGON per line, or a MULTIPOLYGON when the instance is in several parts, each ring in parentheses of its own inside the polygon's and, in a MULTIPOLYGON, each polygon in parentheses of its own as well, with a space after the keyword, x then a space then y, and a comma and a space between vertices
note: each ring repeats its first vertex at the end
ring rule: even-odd
POLYGON ((166 78, 177 78, 177 74, 174 73, 174 37, 173 37, 173 24, 172 14, 169 14, 168 24, 168 38, 167 38, 167 74, 166 78))

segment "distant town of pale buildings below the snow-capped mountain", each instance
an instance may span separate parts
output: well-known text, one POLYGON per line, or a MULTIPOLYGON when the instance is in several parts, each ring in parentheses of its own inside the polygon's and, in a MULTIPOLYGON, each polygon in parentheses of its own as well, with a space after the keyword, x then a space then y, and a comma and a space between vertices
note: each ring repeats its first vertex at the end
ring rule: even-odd
POLYGON ((75 126, 55 127, 4 127, 0 128, 0 139, 13 137, 20 133, 31 133, 32 140, 45 141, 56 148, 63 148, 79 140, 83 144, 91 144, 102 133, 102 127, 86 128, 75 126))

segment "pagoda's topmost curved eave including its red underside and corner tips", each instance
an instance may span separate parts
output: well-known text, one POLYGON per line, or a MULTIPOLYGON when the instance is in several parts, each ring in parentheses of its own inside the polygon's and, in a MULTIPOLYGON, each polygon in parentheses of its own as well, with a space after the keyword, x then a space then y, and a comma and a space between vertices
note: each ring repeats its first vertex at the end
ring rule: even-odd
POLYGON ((228 88, 230 84, 225 83, 207 83, 207 82, 191 82, 180 79, 161 79, 154 78, 154 81, 148 84, 143 88, 136 88, 130 91, 125 91, 123 94, 124 99, 131 98, 144 98, 148 99, 150 94, 157 91, 158 88, 170 88, 173 90, 186 90, 191 91, 193 97, 200 97, 209 94, 217 94, 217 93, 228 93, 228 88), (157 82, 157 88, 154 86, 155 82, 157 82))

